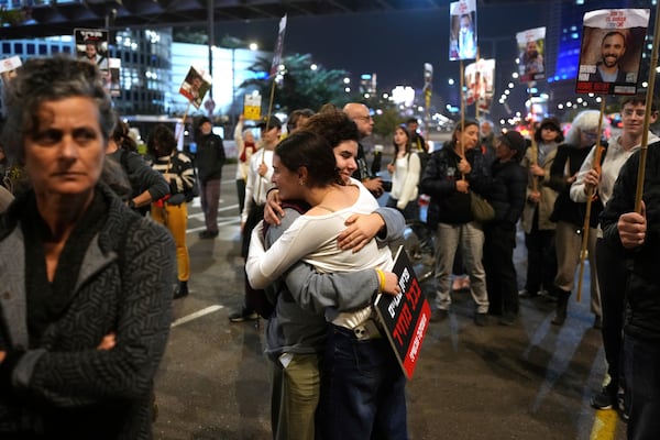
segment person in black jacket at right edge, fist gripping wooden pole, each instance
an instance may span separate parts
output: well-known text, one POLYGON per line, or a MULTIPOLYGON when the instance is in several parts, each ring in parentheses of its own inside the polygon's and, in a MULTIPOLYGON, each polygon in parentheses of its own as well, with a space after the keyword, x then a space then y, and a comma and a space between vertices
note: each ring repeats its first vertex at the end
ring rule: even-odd
POLYGON ((641 212, 634 212, 640 152, 622 167, 601 215, 603 237, 626 263, 624 370, 628 439, 660 432, 660 142, 648 146, 641 212))

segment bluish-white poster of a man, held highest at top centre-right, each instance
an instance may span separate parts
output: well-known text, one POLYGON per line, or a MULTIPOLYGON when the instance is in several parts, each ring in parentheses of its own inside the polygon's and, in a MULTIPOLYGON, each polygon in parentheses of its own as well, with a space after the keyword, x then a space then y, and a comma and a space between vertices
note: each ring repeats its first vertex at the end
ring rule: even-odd
POLYGON ((476 59, 476 0, 449 4, 449 59, 476 59))

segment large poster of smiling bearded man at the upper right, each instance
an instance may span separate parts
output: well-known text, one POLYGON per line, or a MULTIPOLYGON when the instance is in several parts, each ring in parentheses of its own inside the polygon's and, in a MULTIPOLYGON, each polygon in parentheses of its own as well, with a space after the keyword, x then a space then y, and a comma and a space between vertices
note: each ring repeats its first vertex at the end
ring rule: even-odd
POLYGON ((602 9, 584 14, 578 94, 637 92, 649 16, 648 9, 602 9))

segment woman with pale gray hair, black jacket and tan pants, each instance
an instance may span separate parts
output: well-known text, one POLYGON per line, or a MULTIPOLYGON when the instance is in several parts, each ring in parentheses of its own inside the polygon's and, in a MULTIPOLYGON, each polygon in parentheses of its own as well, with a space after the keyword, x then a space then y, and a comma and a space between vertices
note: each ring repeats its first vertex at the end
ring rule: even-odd
MULTIPOLYGON (((579 113, 571 129, 566 133, 566 142, 560 145, 550 168, 550 182, 548 185, 558 191, 554 209, 550 220, 557 222, 554 231, 557 250, 557 275, 554 277, 554 292, 557 297, 557 315, 552 323, 561 326, 566 319, 566 309, 571 290, 575 279, 575 270, 580 264, 580 252, 582 249, 582 228, 586 213, 586 204, 578 204, 571 200, 571 185, 575 182, 584 158, 596 143, 598 136, 598 121, 601 112, 597 110, 585 110, 579 113)), ((596 222, 598 212, 595 211, 600 204, 592 204, 591 220, 596 222)), ((590 255, 595 255, 596 238, 590 237, 590 255)), ((598 294, 598 280, 596 278, 596 262, 590 257, 591 275, 591 308, 601 316, 601 296, 598 294)))

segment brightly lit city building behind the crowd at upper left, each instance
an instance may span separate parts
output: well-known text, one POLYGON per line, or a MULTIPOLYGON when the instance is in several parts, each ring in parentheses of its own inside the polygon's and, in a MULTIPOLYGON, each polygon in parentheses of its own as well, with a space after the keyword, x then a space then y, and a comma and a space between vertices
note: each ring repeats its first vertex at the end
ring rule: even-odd
MULTIPOLYGON (((108 56, 121 62, 119 92, 113 97, 120 114, 168 114, 189 117, 209 114, 202 105, 199 109, 188 106, 178 90, 190 66, 212 72, 212 87, 205 101, 212 98, 213 116, 235 118, 243 109, 243 90, 240 85, 265 75, 250 68, 260 57, 270 57, 263 51, 249 48, 211 50, 212 69, 209 70, 209 47, 201 44, 173 41, 172 29, 124 30, 113 34, 108 56)), ((75 53, 73 35, 44 38, 2 41, 2 57, 19 56, 24 62, 32 57, 75 53)), ((0 101, 1 108, 1 101, 0 101)))

